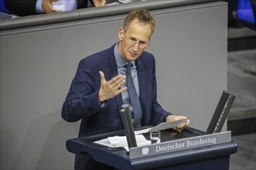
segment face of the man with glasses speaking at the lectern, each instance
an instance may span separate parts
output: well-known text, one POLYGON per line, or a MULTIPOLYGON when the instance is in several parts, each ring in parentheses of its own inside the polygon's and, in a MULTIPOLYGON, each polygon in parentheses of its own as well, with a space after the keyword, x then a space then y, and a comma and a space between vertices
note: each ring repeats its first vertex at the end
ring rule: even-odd
POLYGON ((144 49, 142 46, 150 42, 151 29, 149 25, 144 25, 134 19, 129 28, 124 32, 119 29, 119 53, 126 61, 133 61, 139 58, 144 49), (135 42, 131 45, 131 42, 135 42))

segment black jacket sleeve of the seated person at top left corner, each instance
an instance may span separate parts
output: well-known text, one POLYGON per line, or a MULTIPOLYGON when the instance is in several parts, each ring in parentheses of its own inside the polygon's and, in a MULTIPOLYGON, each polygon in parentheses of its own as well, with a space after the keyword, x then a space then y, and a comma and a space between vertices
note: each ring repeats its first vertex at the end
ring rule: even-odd
POLYGON ((19 16, 35 15, 36 2, 37 0, 6 0, 5 7, 19 16))

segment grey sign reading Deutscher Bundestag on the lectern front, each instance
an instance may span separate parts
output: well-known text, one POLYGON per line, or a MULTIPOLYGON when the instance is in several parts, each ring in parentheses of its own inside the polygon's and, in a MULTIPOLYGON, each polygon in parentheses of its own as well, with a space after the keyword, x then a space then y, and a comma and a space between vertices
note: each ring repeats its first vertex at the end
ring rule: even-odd
POLYGON ((151 155, 161 155, 173 151, 218 145, 231 141, 231 131, 216 134, 205 134, 192 138, 165 141, 158 144, 130 148, 130 158, 141 158, 151 155))

